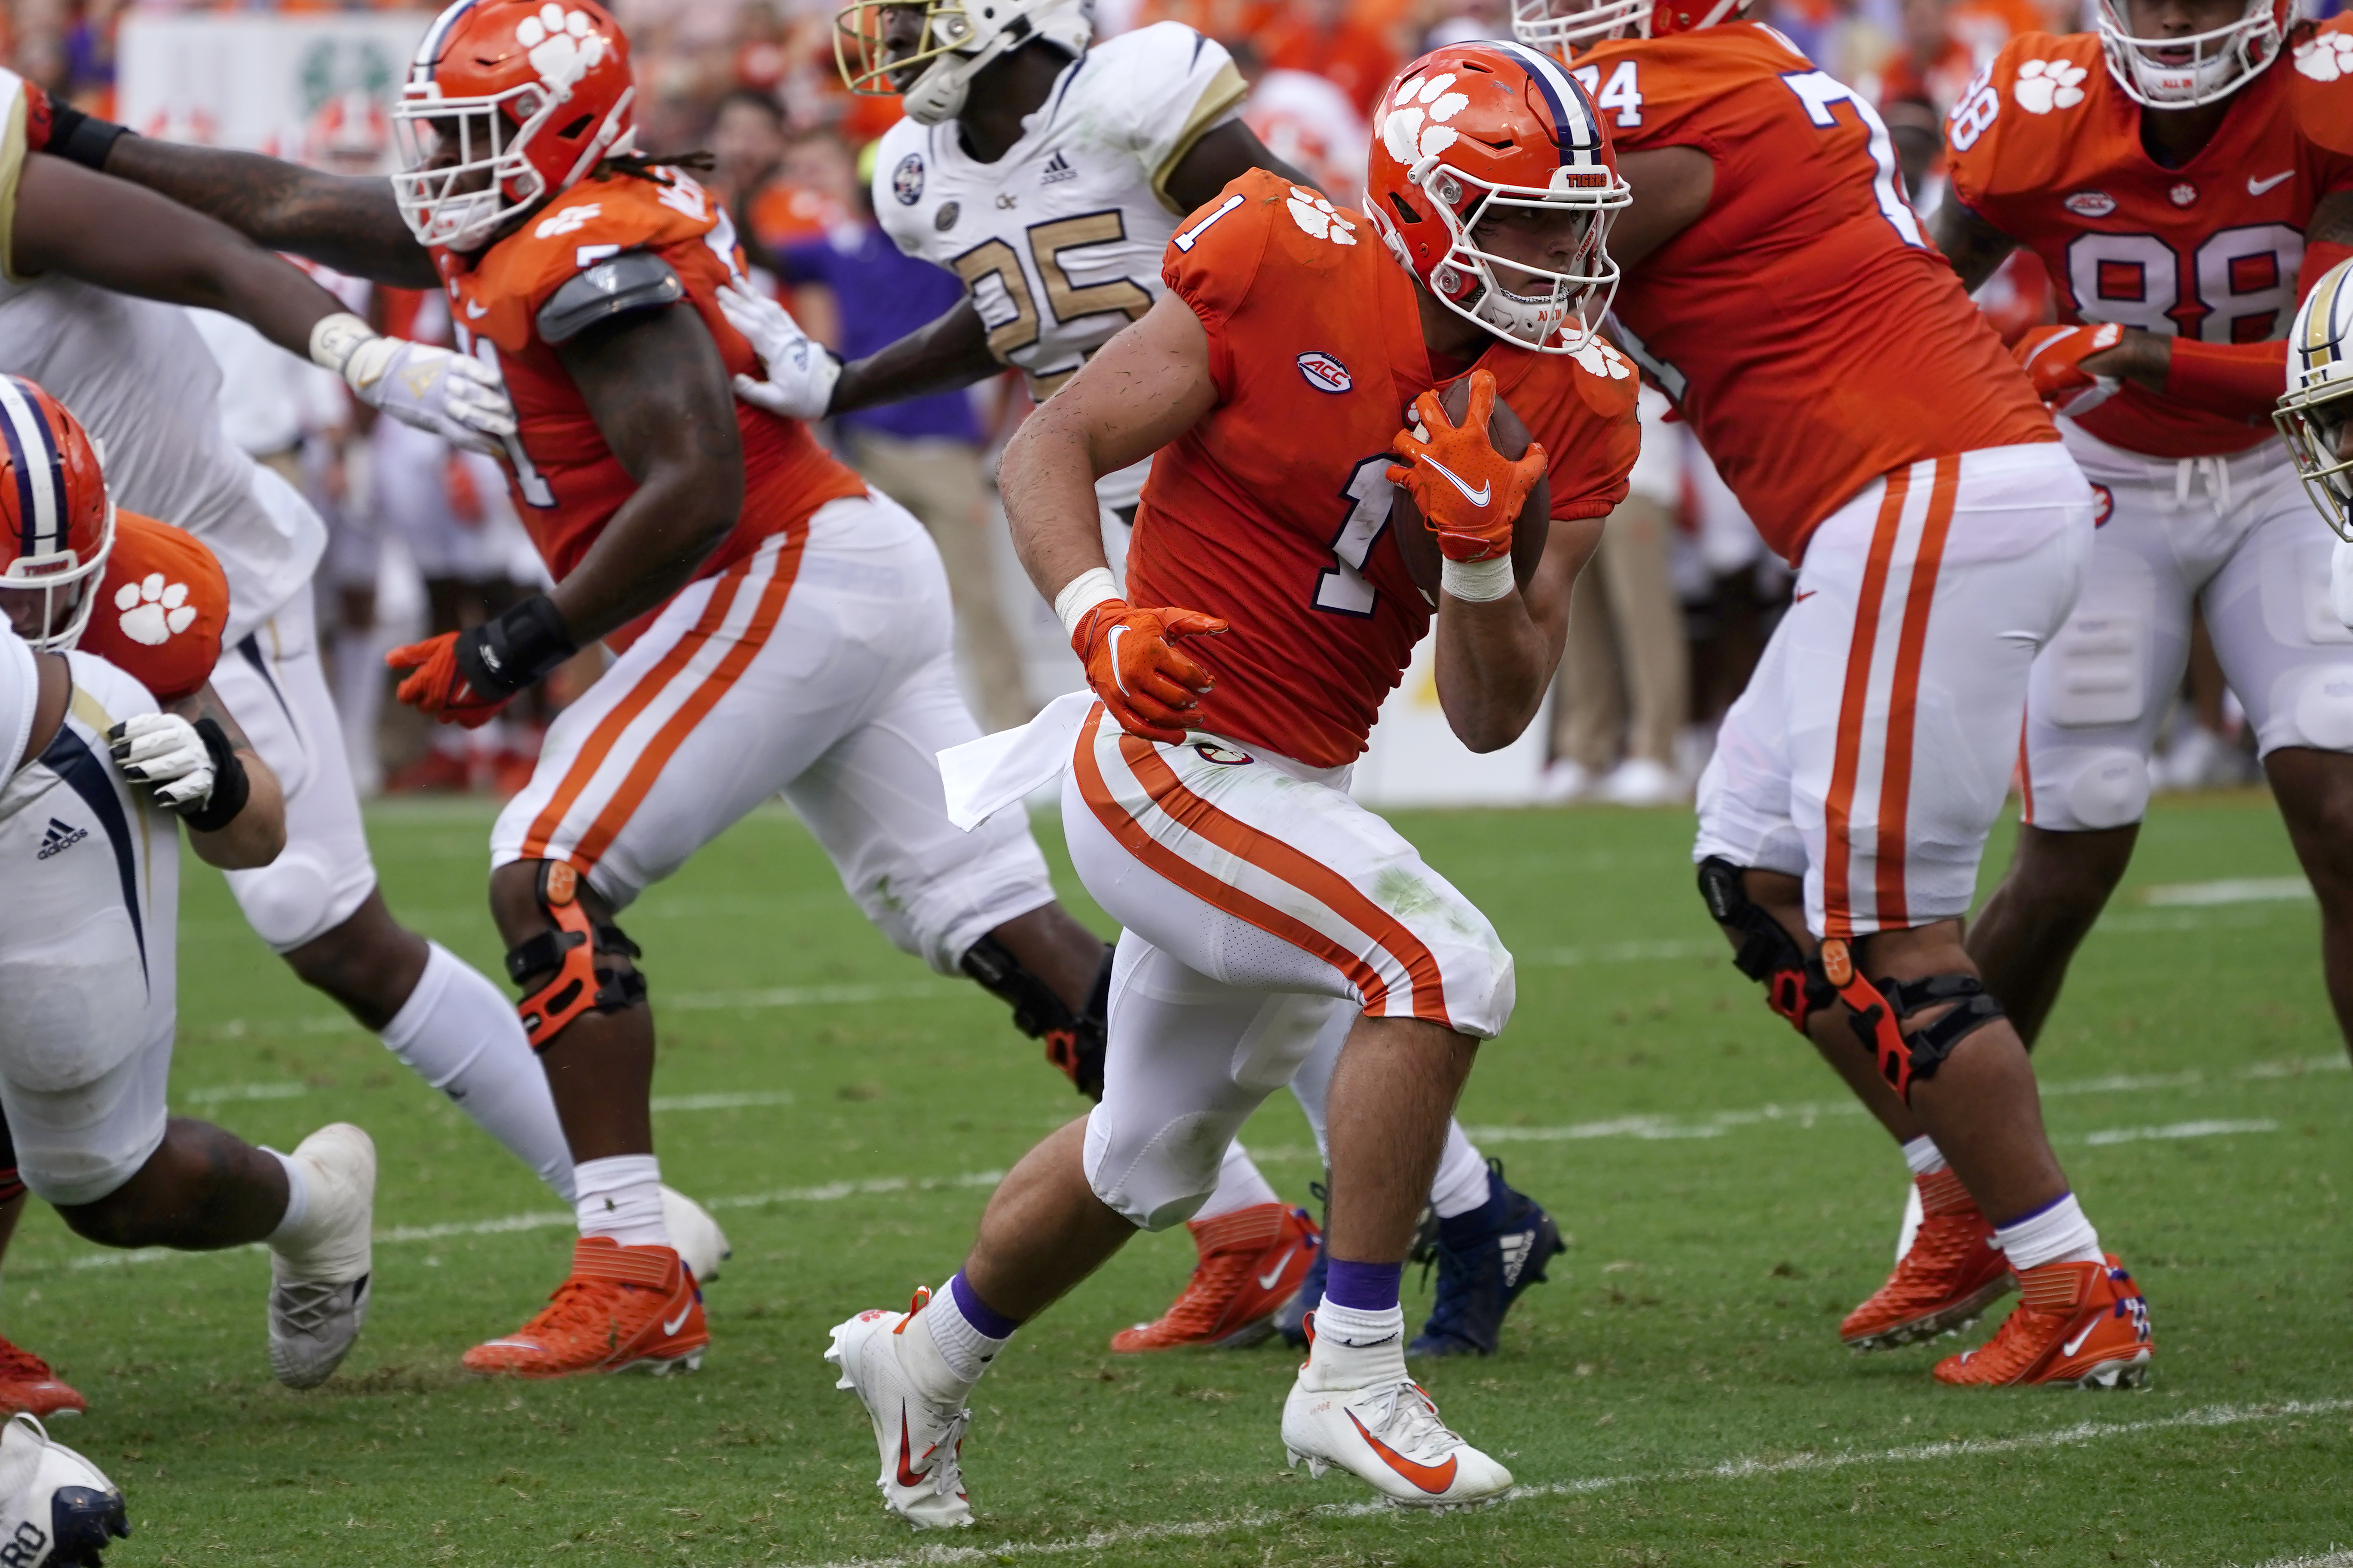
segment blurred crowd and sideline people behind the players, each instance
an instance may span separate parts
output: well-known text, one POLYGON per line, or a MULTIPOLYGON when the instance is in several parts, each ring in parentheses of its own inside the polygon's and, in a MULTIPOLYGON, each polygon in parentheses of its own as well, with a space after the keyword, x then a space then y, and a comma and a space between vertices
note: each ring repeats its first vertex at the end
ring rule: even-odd
MULTIPOLYGON (((1941 197, 1939 127, 1962 87, 2019 31, 2092 26, 2097 0, 1767 0, 1762 16, 1885 115, 1915 207, 1941 197)), ((2322 0, 2332 12, 2346 0, 2322 0)), ((2311 7, 2311 0, 2308 0, 2311 7)), ((139 9, 334 12, 327 0, 169 5, 16 0, 0 59, 113 113, 115 33, 139 9)), ((640 146, 708 148, 708 186, 736 216, 746 252, 788 308, 845 357, 936 317, 960 284, 901 256, 866 202, 871 143, 896 99, 852 96, 833 63, 833 5, 816 0, 616 0, 640 78, 640 146)), ((1176 19, 1221 40, 1252 82, 1245 118, 1327 193, 1353 200, 1369 143, 1367 108, 1414 54, 1468 38, 1508 38, 1508 0, 1096 0, 1099 35, 1176 19)), ((395 87, 391 87, 395 89, 395 87)), ((205 139, 202 125, 139 125, 205 139)), ((381 103, 346 92, 315 110, 301 146, 273 148, 351 172, 381 172, 381 103)), ((388 331, 447 334, 433 296, 329 280, 388 331)), ((2047 280, 2014 256, 1981 303, 2017 336, 2049 320, 2047 280)), ((226 371, 224 418, 259 458, 280 465, 332 520, 320 574, 322 625, 336 630, 339 698, 362 785, 504 792, 529 773, 532 715, 487 731, 426 733, 386 705, 381 651, 419 630, 496 614, 544 578, 487 458, 435 451, 431 437, 362 421, 341 383, 214 317, 207 341, 226 371)), ((958 637, 974 708, 991 729, 1026 719, 1078 684, 1047 607, 1005 541, 995 451, 1028 411, 1019 378, 833 421, 826 437, 878 489, 939 536, 958 595, 958 637)), ((1546 799, 1668 804, 1689 799, 1715 719, 1746 682, 1788 595, 1706 456, 1645 395, 1645 451, 1633 496, 1609 520, 1579 583, 1569 654, 1551 722, 1546 799)), ((541 696, 539 719, 595 677, 595 656, 541 696)), ((2200 637, 2158 788, 2209 788, 2257 776, 2235 705, 2200 637)))

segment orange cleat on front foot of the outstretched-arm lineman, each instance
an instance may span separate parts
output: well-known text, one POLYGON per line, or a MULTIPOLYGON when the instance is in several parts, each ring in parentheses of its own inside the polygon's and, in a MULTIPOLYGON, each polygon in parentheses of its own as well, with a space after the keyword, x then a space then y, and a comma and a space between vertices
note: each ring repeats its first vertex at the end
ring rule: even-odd
POLYGON ((704 1363, 711 1331, 694 1272, 668 1246, 581 1237, 572 1279, 529 1324, 466 1352, 485 1378, 576 1378, 645 1368, 661 1378, 704 1363))

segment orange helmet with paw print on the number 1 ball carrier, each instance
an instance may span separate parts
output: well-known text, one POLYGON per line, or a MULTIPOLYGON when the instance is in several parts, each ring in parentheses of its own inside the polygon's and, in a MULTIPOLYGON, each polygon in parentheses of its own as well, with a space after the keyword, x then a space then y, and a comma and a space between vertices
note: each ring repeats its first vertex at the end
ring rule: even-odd
POLYGON ((1619 280, 1609 214, 1631 200, 1593 99, 1537 49, 1433 49, 1374 103, 1365 216, 1388 254, 1447 310, 1537 353, 1593 341, 1619 280), (1497 226, 1553 212, 1574 216, 1555 266, 1492 249, 1497 226))

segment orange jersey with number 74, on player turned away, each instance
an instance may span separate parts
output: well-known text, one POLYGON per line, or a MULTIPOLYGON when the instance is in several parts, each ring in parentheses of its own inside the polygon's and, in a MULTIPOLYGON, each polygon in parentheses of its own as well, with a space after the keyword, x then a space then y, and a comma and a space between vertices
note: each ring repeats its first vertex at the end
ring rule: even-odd
POLYGON ((1614 317, 1791 564, 1880 475, 2059 440, 1904 200, 1871 103, 1755 21, 1577 59, 1619 155, 1715 162, 1706 212, 1628 268, 1614 317))

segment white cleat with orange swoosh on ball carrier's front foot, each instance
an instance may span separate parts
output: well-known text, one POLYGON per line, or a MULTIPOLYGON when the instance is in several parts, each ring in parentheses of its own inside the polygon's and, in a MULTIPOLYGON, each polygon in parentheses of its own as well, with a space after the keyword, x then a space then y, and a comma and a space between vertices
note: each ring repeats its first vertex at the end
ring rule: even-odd
POLYGON ((1315 1363, 1299 1368, 1282 1403, 1282 1448, 1320 1476, 1337 1465, 1374 1486, 1395 1507, 1449 1509, 1494 1502, 1511 1472, 1438 1420, 1438 1406, 1412 1378, 1362 1389, 1308 1387, 1315 1363))

